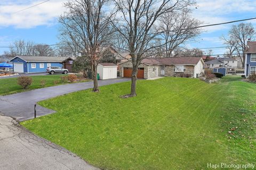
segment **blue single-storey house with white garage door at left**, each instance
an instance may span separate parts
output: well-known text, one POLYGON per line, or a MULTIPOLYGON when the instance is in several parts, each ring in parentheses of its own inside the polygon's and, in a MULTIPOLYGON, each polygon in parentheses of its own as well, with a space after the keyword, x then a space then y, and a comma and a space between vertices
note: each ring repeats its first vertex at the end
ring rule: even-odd
POLYGON ((41 56, 16 56, 10 60, 13 62, 13 71, 19 73, 46 72, 47 67, 62 67, 62 61, 68 57, 41 57, 41 56))

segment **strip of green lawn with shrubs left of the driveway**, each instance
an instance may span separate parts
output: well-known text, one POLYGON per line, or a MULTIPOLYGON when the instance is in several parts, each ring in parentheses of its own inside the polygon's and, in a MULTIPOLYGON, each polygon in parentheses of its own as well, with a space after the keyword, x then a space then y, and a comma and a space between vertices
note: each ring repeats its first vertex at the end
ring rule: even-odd
MULTIPOLYGON (((62 74, 55 74, 55 75, 36 75, 31 76, 33 79, 33 83, 29 86, 29 89, 22 89, 21 86, 17 84, 17 78, 8 78, 8 79, 0 79, 0 95, 10 95, 17 92, 28 91, 32 89, 39 89, 44 87, 56 86, 62 84, 60 77, 63 76, 62 74), (41 86, 40 81, 46 80, 45 86, 41 86), (54 81, 59 81, 58 83, 54 83, 54 81)), ((67 76, 67 75, 65 75, 67 76)))

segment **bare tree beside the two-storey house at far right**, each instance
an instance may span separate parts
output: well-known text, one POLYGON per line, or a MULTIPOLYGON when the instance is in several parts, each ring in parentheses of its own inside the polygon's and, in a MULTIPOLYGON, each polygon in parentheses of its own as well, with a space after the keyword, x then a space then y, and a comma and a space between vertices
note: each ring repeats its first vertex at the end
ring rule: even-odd
POLYGON ((251 23, 240 23, 231 27, 228 38, 224 36, 221 37, 224 44, 229 46, 229 55, 231 56, 234 52, 237 53, 241 58, 243 67, 245 61, 246 42, 248 39, 253 40, 255 38, 254 32, 255 31, 251 23))

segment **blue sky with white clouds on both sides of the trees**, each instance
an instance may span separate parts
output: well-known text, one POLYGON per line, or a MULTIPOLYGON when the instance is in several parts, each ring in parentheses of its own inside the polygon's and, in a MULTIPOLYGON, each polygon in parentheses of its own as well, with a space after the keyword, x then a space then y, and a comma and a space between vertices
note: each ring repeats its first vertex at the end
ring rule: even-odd
MULTIPOLYGON (((58 43, 58 16, 64 11, 65 0, 51 0, 28 10, 15 13, 43 0, 1 0, 0 1, 0 46, 9 46, 14 40, 25 39, 35 43, 58 43)), ((256 1, 242 0, 198 0, 193 16, 204 24, 227 22, 256 17, 256 1)), ((256 27, 256 20, 252 22, 256 27)), ((234 23, 238 24, 238 23, 234 23)), ((207 48, 223 46, 219 39, 227 35, 232 24, 204 28, 195 42, 188 48, 207 48)), ((0 54, 8 48, 0 48, 0 54)), ((223 54, 226 49, 213 49, 214 54, 223 54)))

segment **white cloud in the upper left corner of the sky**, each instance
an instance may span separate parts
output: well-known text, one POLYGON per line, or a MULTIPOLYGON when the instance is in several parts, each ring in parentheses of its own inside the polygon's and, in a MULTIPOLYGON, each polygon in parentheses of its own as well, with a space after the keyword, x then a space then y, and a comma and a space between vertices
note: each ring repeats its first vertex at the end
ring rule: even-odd
POLYGON ((33 28, 38 25, 52 25, 56 23, 58 16, 64 11, 63 0, 55 0, 14 13, 42 1, 26 1, 26 4, 20 4, 21 2, 23 1, 10 3, 10 1, 4 0, 1 2, 0 27, 33 28))

